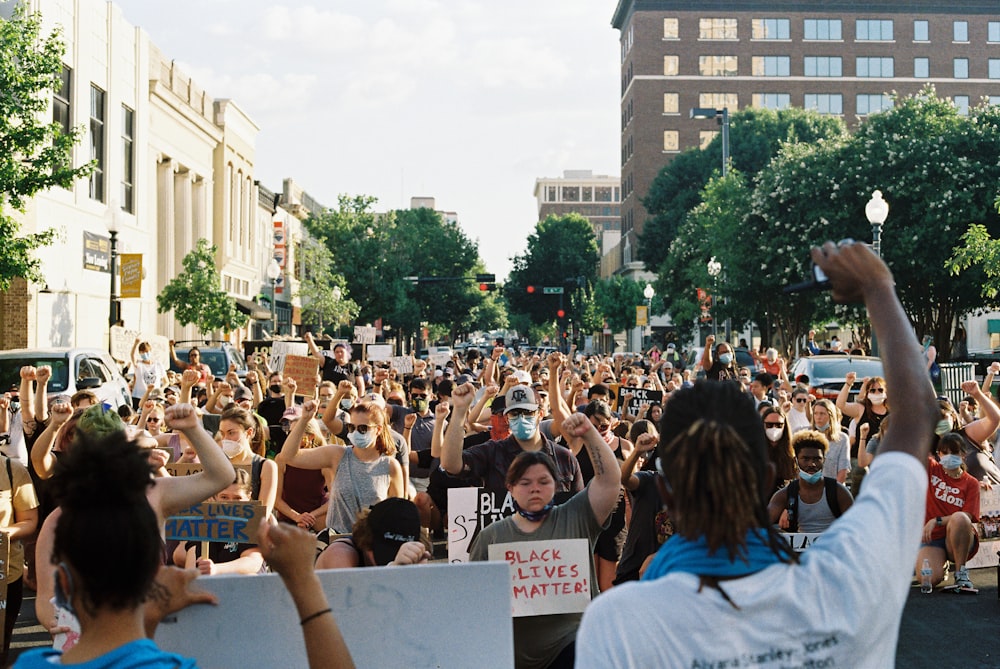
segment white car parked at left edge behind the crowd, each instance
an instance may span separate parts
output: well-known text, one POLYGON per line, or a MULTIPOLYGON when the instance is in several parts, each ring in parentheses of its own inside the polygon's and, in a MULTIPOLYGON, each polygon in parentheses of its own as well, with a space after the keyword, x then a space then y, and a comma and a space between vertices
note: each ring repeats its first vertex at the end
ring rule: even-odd
POLYGON ((73 395, 93 390, 101 402, 118 408, 132 405, 128 382, 107 351, 98 348, 20 348, 0 351, 0 384, 16 390, 21 383, 21 367, 52 368, 46 386, 49 397, 73 395))

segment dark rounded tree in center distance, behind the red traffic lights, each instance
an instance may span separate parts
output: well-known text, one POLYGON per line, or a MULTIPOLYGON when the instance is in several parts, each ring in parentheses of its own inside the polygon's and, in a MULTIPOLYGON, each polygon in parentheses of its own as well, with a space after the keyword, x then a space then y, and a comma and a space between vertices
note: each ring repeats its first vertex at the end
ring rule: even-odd
POLYGON ((526 314, 531 323, 547 323, 556 319, 561 303, 567 321, 585 330, 600 325, 591 308, 600 253, 586 218, 579 214, 546 217, 528 237, 527 251, 513 260, 504 286, 512 312, 526 314), (528 286, 534 292, 529 293, 528 286), (562 288, 563 294, 546 295, 545 287, 562 288))

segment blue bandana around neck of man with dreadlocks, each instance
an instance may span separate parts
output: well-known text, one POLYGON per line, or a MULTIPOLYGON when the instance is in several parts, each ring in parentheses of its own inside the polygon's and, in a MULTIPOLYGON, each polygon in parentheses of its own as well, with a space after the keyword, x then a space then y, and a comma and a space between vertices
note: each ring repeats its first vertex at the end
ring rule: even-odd
POLYGON ((699 576, 740 577, 754 574, 780 562, 768 545, 767 534, 763 530, 749 530, 746 543, 746 555, 730 560, 729 551, 725 548, 710 554, 705 537, 698 537, 692 541, 675 534, 660 546, 642 580, 651 581, 676 571, 699 576))

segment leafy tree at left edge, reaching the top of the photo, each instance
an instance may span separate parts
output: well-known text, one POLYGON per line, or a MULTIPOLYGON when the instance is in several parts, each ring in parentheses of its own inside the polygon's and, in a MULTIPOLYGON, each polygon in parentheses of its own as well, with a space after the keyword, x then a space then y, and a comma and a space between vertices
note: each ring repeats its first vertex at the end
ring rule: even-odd
POLYGON ((73 168, 73 146, 81 128, 64 132, 40 119, 59 88, 64 52, 59 31, 41 36, 41 18, 17 3, 10 20, 0 19, 0 290, 15 278, 42 282, 34 250, 51 244, 54 230, 22 235, 18 221, 5 213, 24 213, 27 202, 53 186, 71 188, 92 164, 73 168))

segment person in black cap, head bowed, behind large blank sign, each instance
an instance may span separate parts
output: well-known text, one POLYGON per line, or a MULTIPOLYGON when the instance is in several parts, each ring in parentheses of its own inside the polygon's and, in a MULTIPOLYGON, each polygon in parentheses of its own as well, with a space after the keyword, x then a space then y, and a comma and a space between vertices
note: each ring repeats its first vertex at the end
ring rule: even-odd
POLYGON ((431 544, 420 528, 420 512, 408 499, 390 497, 362 509, 351 535, 330 542, 316 569, 422 564, 431 559, 431 544))

